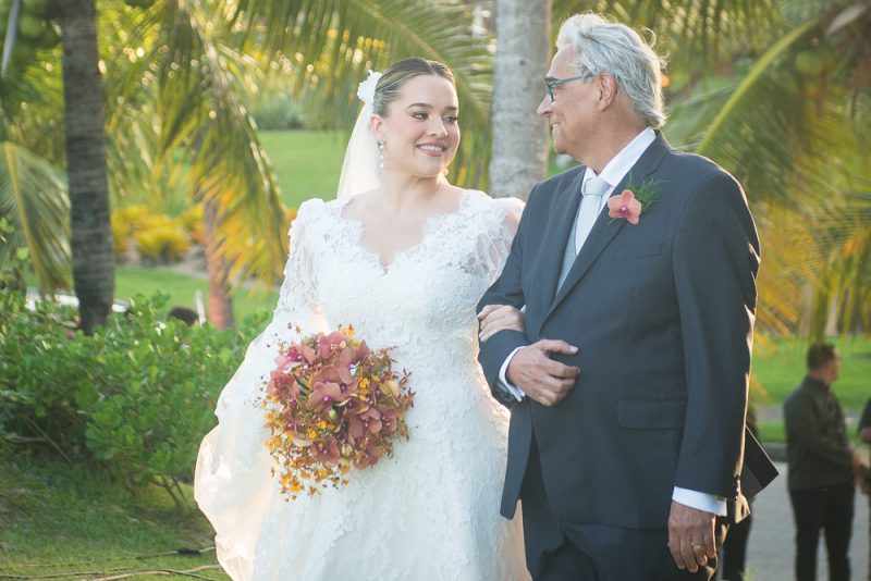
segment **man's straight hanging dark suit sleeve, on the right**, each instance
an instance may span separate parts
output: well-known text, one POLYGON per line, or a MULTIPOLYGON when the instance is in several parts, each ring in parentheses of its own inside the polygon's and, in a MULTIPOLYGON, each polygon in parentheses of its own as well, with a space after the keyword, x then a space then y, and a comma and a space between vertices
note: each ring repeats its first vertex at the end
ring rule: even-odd
POLYGON ((687 415, 675 486, 735 497, 744 454, 759 239, 740 186, 725 172, 689 197, 677 226, 687 415))

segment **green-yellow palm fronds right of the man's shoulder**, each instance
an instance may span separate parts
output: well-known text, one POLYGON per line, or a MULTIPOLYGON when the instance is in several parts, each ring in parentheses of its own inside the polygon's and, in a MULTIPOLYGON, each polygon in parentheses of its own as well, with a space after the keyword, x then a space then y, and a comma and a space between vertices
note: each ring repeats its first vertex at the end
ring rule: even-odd
POLYGON ((868 209, 860 176, 871 170, 862 131, 871 112, 870 8, 811 2, 771 12, 772 38, 751 47, 746 71, 687 98, 674 115, 685 147, 715 159, 749 193, 769 257, 760 281, 763 329, 796 332, 810 312, 805 329, 820 337, 833 329, 826 321, 838 313, 844 320, 845 307, 861 312, 844 293, 871 282, 867 270, 852 268, 868 236, 852 217, 868 209), (809 306, 801 305, 806 295, 813 296, 809 306))

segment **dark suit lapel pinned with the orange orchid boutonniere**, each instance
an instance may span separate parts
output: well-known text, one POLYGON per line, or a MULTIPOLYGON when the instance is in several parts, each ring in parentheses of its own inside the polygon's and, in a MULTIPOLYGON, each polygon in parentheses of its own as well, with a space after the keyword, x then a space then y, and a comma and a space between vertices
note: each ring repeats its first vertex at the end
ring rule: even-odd
MULTIPOLYGON (((657 132, 657 139, 650 144, 650 147, 641 154, 638 161, 633 165, 633 169, 623 177, 617 187, 611 194, 611 197, 619 195, 623 189, 626 187, 626 183, 629 181, 629 176, 633 177, 633 181, 638 183, 639 181, 643 181, 647 178, 651 173, 653 173, 657 168, 659 168, 660 163, 662 162, 665 154, 671 150, 668 144, 665 141, 665 138, 662 136, 660 132, 657 132)), ((574 203, 575 213, 577 213, 577 202, 574 203)), ((574 218, 575 214, 572 214, 574 218)), ((608 215, 608 206, 602 208, 602 211, 599 213, 599 218, 596 220, 596 224, 593 224, 592 230, 590 231, 590 235, 587 237, 587 240, 584 243, 584 247, 580 249, 580 254, 578 258, 575 260, 575 263, 572 265, 572 270, 568 271, 566 275, 565 282, 563 286, 556 293, 556 296, 553 299, 553 304, 551 308, 548 310, 548 314, 544 317, 547 319, 550 314, 556 309, 560 302, 568 295, 572 288, 580 281, 580 279, 587 273, 596 259, 599 258, 599 255, 608 247, 611 240, 616 236, 617 232, 619 232, 626 225, 625 220, 612 220, 608 215)), ((571 227, 571 223, 569 223, 571 227)), ((561 240, 565 243, 565 237, 567 233, 563 235, 561 240)), ((562 254, 549 254, 544 255, 548 257, 554 256, 562 256, 562 254)), ((556 260, 549 260, 549 262, 559 262, 556 260)), ((559 267, 557 267, 559 270, 559 267)), ((559 276, 559 272, 557 272, 559 276)), ((552 296, 552 295, 551 295, 552 296)))

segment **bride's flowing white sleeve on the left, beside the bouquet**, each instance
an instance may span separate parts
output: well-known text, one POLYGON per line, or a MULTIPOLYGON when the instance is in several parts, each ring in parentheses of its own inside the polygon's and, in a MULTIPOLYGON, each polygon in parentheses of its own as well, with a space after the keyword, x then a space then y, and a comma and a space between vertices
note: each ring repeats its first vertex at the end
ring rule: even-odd
POLYGON ((259 522, 275 487, 258 399, 275 364, 279 342, 295 341, 322 326, 316 261, 307 236, 320 206, 320 200, 304 203, 291 226, 291 250, 272 321, 248 346, 222 391, 214 411, 219 423, 199 448, 194 496, 214 527, 218 558, 235 580, 252 578, 259 522))

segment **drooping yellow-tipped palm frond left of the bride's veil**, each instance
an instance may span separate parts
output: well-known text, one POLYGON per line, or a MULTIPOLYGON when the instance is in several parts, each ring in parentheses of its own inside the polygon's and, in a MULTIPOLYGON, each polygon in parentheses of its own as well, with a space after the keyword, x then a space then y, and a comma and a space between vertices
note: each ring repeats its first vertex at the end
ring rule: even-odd
POLYGON ((245 107, 245 67, 255 63, 210 33, 220 23, 209 20, 198 0, 160 8, 161 34, 151 47, 159 164, 189 163, 185 175, 194 198, 218 203, 219 251, 233 274, 273 283, 286 255, 287 224, 271 162, 245 107), (232 232, 223 224, 234 224, 232 232))

